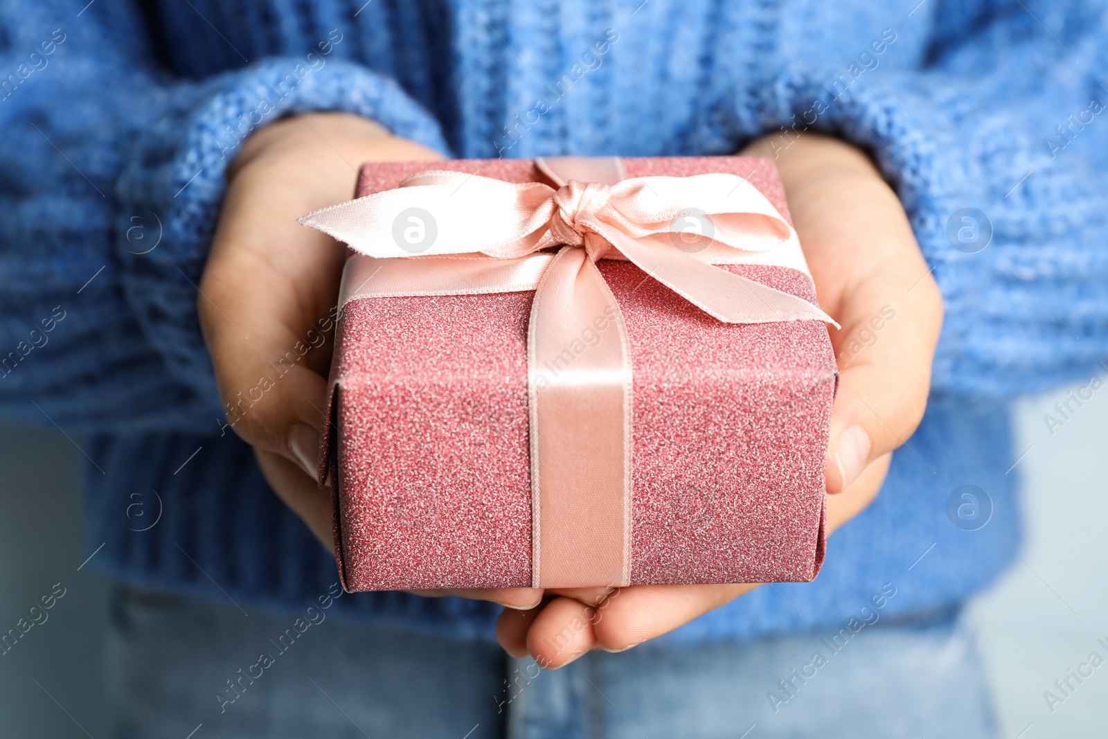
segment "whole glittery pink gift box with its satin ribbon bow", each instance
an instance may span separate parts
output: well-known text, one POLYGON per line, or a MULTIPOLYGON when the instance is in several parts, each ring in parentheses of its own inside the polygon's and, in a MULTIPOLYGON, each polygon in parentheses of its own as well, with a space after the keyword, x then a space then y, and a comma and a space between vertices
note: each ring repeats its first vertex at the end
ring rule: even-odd
POLYGON ((786 305, 817 305, 771 161, 367 164, 356 196, 339 206, 345 211, 301 219, 361 252, 343 275, 321 433, 321 471, 330 480, 338 568, 348 591, 765 583, 817 575, 838 383, 825 324, 813 317, 814 308, 781 320, 765 311, 749 322, 721 320, 675 291, 679 280, 666 276, 691 257, 697 269, 745 278, 733 280, 740 287, 768 288, 748 304, 766 302, 768 295, 786 305), (438 174, 420 175, 429 171, 438 174), (413 184, 413 175, 424 178, 413 184), (582 185, 594 179, 602 184, 582 185), (749 213, 720 216, 696 206, 724 197, 731 183, 755 203, 749 213), (406 193, 401 184, 416 189, 406 193), (492 194, 480 195, 481 187, 492 194), (514 188, 503 195, 516 198, 511 207, 499 205, 506 187, 514 188), (393 193, 410 197, 381 198, 393 193), (547 206, 552 197, 555 205, 547 206), (608 207, 608 197, 624 198, 623 205, 608 207), (663 215, 694 226, 699 219, 699 228, 661 229, 658 214, 644 216, 661 207, 659 198, 691 198, 691 207, 666 205, 663 215), (458 212, 441 215, 451 207, 458 212), (520 215, 521 208, 532 211, 520 215), (567 208, 607 208, 607 220, 567 208), (625 217, 632 212, 655 223, 632 223, 625 217), (540 227, 509 248, 496 235, 502 220, 540 227), (724 257, 706 256, 722 250, 711 243, 714 234, 699 230, 724 228, 722 220, 746 240, 724 257), (620 235, 634 258, 626 257, 594 226, 604 234, 625 228, 632 238, 652 230, 638 239, 649 243, 650 258, 674 257, 677 266, 658 261, 655 269, 620 235), (451 252, 451 243, 479 243, 485 230, 492 240, 482 253, 451 252), (545 246, 520 256, 535 249, 531 242, 538 236, 545 246), (593 314, 583 314, 589 320, 566 326, 560 309, 547 305, 541 314, 529 280, 543 279, 562 257, 561 244, 574 239, 582 243, 564 248, 581 264, 570 274, 592 279, 595 265, 609 302, 601 300, 593 314), (515 270, 512 276, 495 274, 503 265, 515 270), (383 287, 366 288, 382 280, 383 287), (535 332, 547 324, 563 343, 547 347, 543 360, 535 332), (623 331, 622 343, 612 338, 614 329, 623 331), (608 360, 625 373, 605 369, 608 360, 594 359, 594 351, 615 351, 608 360), (617 379, 597 380, 608 376, 617 379), (558 386, 556 392, 544 382, 558 386))

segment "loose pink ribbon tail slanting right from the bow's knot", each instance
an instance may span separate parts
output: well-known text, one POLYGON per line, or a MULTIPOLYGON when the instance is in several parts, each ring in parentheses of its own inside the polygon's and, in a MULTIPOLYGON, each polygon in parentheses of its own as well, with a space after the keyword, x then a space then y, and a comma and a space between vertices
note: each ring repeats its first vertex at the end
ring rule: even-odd
POLYGON ((727 324, 820 320, 839 324, 803 298, 695 259, 670 245, 653 246, 658 236, 635 239, 615 228, 597 233, 627 259, 706 314, 727 324))

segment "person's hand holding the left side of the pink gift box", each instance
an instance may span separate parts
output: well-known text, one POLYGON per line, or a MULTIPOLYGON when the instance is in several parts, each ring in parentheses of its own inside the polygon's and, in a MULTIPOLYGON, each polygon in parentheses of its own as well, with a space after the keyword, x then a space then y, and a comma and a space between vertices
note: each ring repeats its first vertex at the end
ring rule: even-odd
MULTIPOLYGON (((296 219, 349 201, 362 162, 438 158, 372 121, 319 113, 258 131, 227 173, 199 286, 201 328, 234 430, 254 447, 277 495, 328 550, 331 495, 316 483, 318 429, 327 401, 331 309, 347 250, 296 219)), ((540 598, 530 588, 435 594, 514 607, 540 598)))

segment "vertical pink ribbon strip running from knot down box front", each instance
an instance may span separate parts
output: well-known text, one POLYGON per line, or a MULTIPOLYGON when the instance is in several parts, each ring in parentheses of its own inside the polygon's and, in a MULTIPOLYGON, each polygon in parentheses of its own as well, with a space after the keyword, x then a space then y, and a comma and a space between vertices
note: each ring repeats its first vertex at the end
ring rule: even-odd
POLYGON ((632 367, 611 289, 579 247, 543 276, 527 331, 534 587, 630 579, 632 367))

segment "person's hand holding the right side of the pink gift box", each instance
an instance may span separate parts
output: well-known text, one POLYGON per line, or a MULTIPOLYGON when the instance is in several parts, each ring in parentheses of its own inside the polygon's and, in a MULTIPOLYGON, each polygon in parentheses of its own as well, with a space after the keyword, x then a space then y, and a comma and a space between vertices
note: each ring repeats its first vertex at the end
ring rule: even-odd
MULTIPOLYGON (((943 306, 904 209, 870 160, 834 138, 762 138, 742 154, 769 156, 821 307, 841 372, 827 458, 828 530, 876 496, 892 451, 923 418, 943 306)), ((757 585, 639 585, 575 589, 496 625, 511 654, 560 667, 593 649, 622 651, 670 632, 757 585)))

